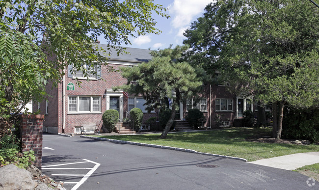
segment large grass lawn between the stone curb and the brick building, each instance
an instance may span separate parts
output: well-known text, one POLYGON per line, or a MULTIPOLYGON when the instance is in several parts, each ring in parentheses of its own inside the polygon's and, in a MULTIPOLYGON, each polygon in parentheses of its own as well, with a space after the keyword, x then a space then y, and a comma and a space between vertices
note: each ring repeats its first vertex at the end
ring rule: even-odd
POLYGON ((233 156, 256 161, 283 155, 318 152, 318 145, 293 145, 278 143, 250 142, 245 139, 270 136, 272 129, 265 128, 227 128, 198 132, 169 133, 166 139, 160 134, 98 136, 103 138, 141 142, 187 148, 225 156, 233 156))

